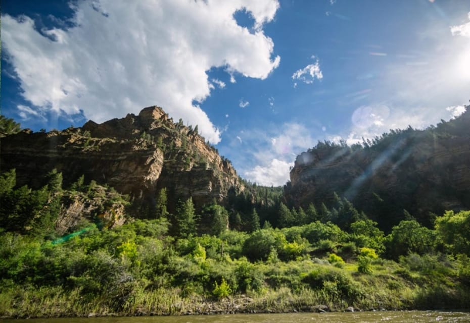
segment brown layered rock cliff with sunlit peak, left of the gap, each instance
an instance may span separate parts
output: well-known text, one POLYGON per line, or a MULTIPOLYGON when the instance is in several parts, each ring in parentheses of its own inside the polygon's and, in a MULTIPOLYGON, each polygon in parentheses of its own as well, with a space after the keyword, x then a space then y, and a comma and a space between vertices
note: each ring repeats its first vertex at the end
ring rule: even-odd
POLYGON ((170 208, 190 196, 197 206, 221 202, 243 185, 230 161, 194 130, 173 123, 157 106, 102 124, 32 133, 2 139, 2 172, 16 168, 17 182, 32 187, 52 169, 63 172, 64 185, 81 175, 85 182, 108 184, 132 198, 152 201, 163 187, 170 208))

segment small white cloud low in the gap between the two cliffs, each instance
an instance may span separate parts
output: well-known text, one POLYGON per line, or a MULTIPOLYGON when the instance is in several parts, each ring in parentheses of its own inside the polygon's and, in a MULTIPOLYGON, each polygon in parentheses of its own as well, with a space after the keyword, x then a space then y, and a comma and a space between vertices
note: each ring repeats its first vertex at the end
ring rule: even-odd
POLYGON ((286 184, 286 174, 289 177, 290 168, 294 163, 288 163, 284 160, 272 159, 267 166, 256 166, 252 171, 245 175, 260 185, 279 186, 286 184))

